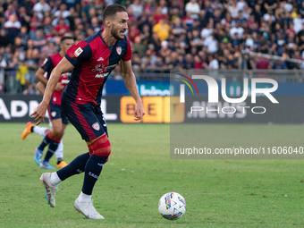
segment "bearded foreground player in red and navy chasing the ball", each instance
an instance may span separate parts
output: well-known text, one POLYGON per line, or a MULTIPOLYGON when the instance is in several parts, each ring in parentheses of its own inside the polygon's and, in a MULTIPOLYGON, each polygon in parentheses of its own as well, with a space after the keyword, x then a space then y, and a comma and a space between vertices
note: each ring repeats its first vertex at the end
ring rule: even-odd
POLYGON ((89 152, 77 156, 71 164, 55 173, 43 173, 46 199, 55 207, 55 191, 58 184, 74 174, 84 172, 80 196, 74 202, 74 210, 89 219, 104 219, 93 207, 91 195, 95 183, 111 153, 107 137, 106 121, 100 109, 102 89, 110 72, 119 63, 126 88, 136 102, 134 120, 145 114, 131 68, 131 44, 124 36, 128 29, 128 13, 120 4, 111 4, 103 13, 105 30, 73 45, 55 67, 47 83, 45 96, 31 115, 37 124, 44 120, 46 107, 63 72, 72 71, 72 78, 63 90, 63 113, 87 142, 89 152))

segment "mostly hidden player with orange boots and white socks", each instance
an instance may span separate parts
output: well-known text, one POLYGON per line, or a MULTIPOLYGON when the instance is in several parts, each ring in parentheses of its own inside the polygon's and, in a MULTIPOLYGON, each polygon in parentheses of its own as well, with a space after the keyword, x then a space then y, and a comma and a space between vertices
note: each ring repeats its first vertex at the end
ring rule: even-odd
MULTIPOLYGON (((39 81, 36 85, 36 89, 42 94, 45 94, 45 86, 39 81)), ((49 122, 50 127, 52 128, 52 122, 49 122)), ((25 130, 22 132, 21 139, 25 139, 30 133, 36 133, 43 137, 46 137, 48 131, 51 131, 49 128, 35 126, 34 123, 28 122, 25 130)), ((63 161, 63 139, 60 140, 58 148, 55 151, 55 156, 57 158, 57 168, 63 168, 67 165, 66 162, 63 161)))

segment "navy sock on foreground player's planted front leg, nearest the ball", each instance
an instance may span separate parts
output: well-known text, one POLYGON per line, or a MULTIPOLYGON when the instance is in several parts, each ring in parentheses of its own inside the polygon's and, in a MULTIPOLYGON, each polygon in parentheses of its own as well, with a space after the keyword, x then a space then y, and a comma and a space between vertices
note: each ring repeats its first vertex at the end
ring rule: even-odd
POLYGON ((99 174, 103 169, 107 156, 89 156, 87 165, 85 167, 84 181, 82 185, 82 192, 87 195, 92 195, 92 191, 97 182, 99 174))

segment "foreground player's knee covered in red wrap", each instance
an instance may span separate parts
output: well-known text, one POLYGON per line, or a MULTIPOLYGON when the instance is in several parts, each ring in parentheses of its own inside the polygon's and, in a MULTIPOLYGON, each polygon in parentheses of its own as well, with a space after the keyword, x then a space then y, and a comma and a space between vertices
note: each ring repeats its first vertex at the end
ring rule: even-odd
POLYGON ((99 137, 89 145, 89 153, 96 156, 110 156, 111 144, 106 134, 99 137))

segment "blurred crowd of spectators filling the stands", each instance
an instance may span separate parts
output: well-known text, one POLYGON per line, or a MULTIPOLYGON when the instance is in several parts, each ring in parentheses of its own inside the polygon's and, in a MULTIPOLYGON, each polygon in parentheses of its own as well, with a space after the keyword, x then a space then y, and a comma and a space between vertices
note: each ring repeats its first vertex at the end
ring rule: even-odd
MULTIPOLYGON (((18 93, 37 93, 35 72, 59 51, 60 38, 77 43, 102 30, 103 10, 115 3, 129 14, 134 72, 303 68, 241 53, 301 60, 302 0, 1 0, 0 93, 7 84, 18 93)), ((121 79, 119 69, 111 78, 121 79)))

